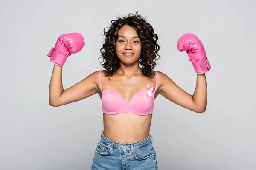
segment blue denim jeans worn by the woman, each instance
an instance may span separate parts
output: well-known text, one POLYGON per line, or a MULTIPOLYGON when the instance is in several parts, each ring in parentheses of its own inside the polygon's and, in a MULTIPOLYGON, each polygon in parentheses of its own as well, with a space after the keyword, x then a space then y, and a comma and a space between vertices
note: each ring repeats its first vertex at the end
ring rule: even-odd
POLYGON ((113 142, 101 134, 92 170, 158 170, 152 136, 131 144, 113 142))

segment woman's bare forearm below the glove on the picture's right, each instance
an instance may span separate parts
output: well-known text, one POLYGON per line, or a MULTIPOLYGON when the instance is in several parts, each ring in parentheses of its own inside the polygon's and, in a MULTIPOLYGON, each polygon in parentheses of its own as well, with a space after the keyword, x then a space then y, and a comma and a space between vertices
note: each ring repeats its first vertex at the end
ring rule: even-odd
POLYGON ((206 111, 207 105, 207 83, 205 74, 197 74, 195 92, 192 95, 198 112, 206 111))

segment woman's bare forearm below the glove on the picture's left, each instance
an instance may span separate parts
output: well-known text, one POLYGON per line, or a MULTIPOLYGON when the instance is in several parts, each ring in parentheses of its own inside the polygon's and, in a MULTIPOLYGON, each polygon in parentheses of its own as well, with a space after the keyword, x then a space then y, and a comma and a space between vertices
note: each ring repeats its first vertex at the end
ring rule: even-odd
POLYGON ((49 85, 49 104, 55 105, 63 91, 62 67, 54 65, 49 85))

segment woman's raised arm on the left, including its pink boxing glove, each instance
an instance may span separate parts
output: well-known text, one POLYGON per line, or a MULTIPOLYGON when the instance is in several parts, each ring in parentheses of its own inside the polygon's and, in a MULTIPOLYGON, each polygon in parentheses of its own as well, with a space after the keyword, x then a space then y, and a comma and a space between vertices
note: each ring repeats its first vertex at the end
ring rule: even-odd
POLYGON ((97 71, 82 81, 64 90, 62 85, 62 67, 67 58, 78 53, 84 47, 84 38, 79 33, 68 33, 58 37, 55 47, 47 56, 54 64, 49 85, 49 105, 61 106, 76 102, 97 93, 97 71))

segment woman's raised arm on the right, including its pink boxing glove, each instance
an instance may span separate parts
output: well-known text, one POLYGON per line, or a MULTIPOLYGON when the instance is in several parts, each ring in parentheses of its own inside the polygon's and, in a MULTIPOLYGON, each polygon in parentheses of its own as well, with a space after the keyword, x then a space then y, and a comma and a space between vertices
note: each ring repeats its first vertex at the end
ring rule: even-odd
POLYGON ((183 34, 178 42, 177 49, 186 51, 189 61, 197 73, 195 92, 193 95, 177 86, 172 79, 163 73, 159 74, 159 94, 170 101, 197 113, 206 111, 207 83, 205 73, 211 70, 211 65, 206 57, 204 45, 194 34, 183 34))

